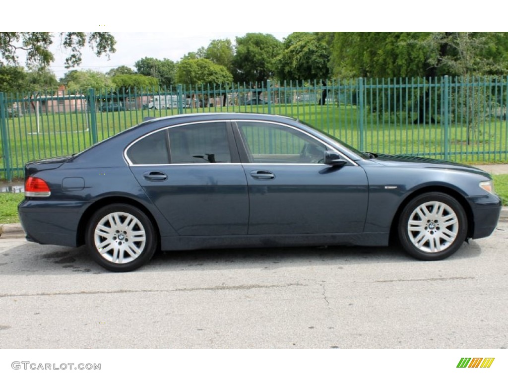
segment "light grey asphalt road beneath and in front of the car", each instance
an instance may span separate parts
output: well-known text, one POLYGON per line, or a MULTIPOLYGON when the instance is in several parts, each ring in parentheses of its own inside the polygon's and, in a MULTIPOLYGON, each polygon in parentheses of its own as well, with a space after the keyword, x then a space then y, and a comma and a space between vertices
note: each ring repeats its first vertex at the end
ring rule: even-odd
POLYGON ((508 223, 451 258, 400 248, 162 253, 110 273, 83 248, 0 240, 0 348, 508 347, 508 223))

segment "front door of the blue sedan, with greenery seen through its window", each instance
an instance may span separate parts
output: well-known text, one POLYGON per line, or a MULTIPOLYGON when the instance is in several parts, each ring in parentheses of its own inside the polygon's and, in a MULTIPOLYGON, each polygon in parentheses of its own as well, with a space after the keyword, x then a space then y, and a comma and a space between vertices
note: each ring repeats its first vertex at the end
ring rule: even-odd
POLYGON ((368 186, 361 167, 323 164, 329 147, 289 125, 237 126, 248 157, 249 234, 363 231, 368 186))

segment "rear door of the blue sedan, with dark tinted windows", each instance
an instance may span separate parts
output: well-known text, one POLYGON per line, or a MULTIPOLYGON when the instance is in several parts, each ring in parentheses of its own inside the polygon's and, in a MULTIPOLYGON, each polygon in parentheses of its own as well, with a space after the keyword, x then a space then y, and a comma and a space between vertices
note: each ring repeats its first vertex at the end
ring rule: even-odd
POLYGON ((227 121, 173 126, 134 142, 126 157, 179 235, 246 234, 247 181, 227 121))

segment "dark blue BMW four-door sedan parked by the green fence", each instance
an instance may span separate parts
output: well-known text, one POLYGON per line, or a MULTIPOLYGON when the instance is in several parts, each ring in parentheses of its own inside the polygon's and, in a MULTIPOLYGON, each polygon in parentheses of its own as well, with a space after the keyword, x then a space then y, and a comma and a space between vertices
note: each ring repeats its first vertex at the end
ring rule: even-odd
POLYGON ((422 157, 360 152, 293 118, 244 113, 142 122, 25 165, 29 241, 86 245, 111 271, 156 250, 388 245, 440 260, 489 236, 491 176, 422 157))

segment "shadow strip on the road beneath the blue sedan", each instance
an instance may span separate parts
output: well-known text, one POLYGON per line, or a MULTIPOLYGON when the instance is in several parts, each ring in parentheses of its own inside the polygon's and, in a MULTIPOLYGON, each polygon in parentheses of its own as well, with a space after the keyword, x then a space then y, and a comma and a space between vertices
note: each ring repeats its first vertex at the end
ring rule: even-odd
MULTIPOLYGON (((469 241, 445 261, 478 257, 481 244, 469 241)), ((228 248, 158 252, 136 272, 171 272, 204 269, 275 269, 301 266, 350 266, 387 263, 423 264, 406 255, 398 245, 389 247, 330 246, 284 248, 228 248)), ((4 274, 102 274, 109 273, 92 261, 84 246, 25 243, 0 252, 0 275, 4 274)))

